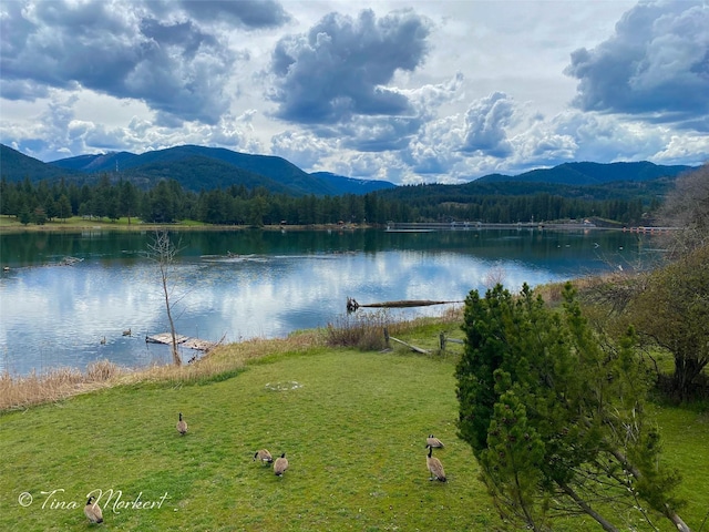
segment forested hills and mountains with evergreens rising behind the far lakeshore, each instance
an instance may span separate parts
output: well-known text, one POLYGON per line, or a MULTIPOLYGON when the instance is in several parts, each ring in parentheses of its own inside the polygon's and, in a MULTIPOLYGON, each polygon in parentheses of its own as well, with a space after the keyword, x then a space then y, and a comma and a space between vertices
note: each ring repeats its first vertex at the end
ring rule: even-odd
POLYGON ((590 217, 648 225, 676 176, 687 168, 648 162, 567 163, 517 177, 394 186, 326 172, 307 174, 280 157, 204 146, 84 155, 53 164, 7 146, 1 154, 0 214, 23 223, 92 215, 257 226, 590 217))

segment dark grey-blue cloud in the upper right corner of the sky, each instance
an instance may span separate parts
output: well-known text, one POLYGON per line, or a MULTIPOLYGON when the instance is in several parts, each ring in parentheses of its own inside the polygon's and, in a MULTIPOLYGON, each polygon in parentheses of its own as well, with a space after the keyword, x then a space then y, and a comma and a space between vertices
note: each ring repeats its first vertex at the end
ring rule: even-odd
POLYGON ((572 53, 565 73, 579 81, 574 104, 584 111, 686 122, 708 132, 708 28, 706 1, 638 3, 613 37, 572 53))

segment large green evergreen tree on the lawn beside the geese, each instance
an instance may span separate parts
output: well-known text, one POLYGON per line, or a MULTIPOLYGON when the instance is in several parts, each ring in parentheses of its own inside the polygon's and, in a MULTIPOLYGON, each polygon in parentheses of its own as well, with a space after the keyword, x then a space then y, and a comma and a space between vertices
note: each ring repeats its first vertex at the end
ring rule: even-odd
POLYGON ((606 531, 654 530, 664 515, 688 531, 631 335, 618 348, 599 342, 571 285, 564 296, 556 310, 526 285, 516 297, 497 285, 465 301, 459 432, 501 515, 535 531, 559 514, 590 515, 606 531))

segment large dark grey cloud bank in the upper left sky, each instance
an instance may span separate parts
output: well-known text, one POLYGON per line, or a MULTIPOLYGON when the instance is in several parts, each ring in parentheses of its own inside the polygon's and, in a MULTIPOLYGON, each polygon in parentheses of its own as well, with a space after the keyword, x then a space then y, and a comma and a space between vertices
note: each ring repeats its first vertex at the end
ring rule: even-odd
MULTIPOLYGON (((273 25, 259 16, 275 2, 185 2, 201 19, 229 12, 239 24, 273 25), (220 4, 220 6, 219 6, 220 4)), ((85 88, 137 99, 173 120, 218 122, 228 110, 227 83, 240 55, 194 21, 155 18, 153 2, 3 2, 2 96, 32 100, 47 88, 85 88)), ((223 19, 224 20, 224 19, 223 19)), ((227 19, 228 20, 228 19, 227 19)), ((167 117, 164 119, 167 121, 167 117)))

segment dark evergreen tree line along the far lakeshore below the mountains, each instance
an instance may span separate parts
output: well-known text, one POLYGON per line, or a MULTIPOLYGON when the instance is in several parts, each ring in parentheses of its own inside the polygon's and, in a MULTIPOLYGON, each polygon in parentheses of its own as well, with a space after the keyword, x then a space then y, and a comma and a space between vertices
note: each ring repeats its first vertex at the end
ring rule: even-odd
POLYGON ((403 186, 364 195, 291 196, 263 187, 232 185, 226 188, 185 190, 177 181, 163 180, 143 190, 127 180, 102 175, 95 184, 64 180, 34 184, 0 181, 0 214, 16 216, 23 224, 44 224, 71 216, 146 223, 194 219, 214 225, 294 225, 394 222, 549 222, 599 217, 639 225, 658 203, 636 200, 588 200, 541 192, 522 195, 461 194, 441 196, 436 188, 403 186))

